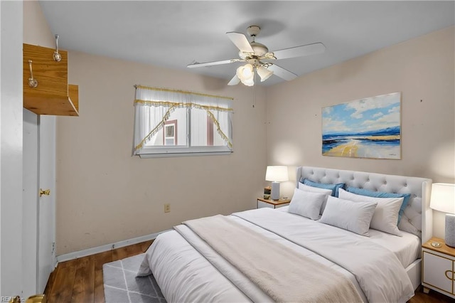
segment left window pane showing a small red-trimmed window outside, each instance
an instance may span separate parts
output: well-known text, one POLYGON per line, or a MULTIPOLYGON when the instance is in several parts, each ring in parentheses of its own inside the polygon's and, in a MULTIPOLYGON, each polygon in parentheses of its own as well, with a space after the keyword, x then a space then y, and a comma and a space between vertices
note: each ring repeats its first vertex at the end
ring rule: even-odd
POLYGON ((166 121, 163 128, 151 137, 146 144, 148 147, 159 147, 164 145, 188 146, 187 144, 187 110, 177 108, 166 121))

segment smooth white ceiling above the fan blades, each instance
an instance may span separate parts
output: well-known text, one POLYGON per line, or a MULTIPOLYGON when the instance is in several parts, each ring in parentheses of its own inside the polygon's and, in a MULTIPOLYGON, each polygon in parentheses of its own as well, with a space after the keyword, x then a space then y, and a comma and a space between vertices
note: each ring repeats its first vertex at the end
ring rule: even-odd
MULTIPOLYGON (((241 63, 225 35, 261 27, 269 50, 322 42, 326 52, 277 60, 296 75, 454 25, 455 1, 40 1, 59 47, 226 79, 241 63)), ((284 80, 272 75, 264 85, 284 80)))

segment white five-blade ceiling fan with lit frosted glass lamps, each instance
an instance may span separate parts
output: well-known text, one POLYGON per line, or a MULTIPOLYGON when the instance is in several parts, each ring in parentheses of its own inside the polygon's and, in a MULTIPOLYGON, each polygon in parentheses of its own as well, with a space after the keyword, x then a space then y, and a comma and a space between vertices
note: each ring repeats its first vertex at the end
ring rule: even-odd
POLYGON ((257 75, 261 78, 261 82, 267 80, 271 75, 277 75, 279 78, 290 81, 297 77, 296 74, 291 73, 279 65, 271 62, 273 60, 287 59, 301 57, 304 55, 314 55, 316 53, 323 53, 326 46, 323 43, 311 43, 304 46, 296 46, 293 48, 284 48, 282 50, 274 50, 269 52, 269 48, 262 43, 255 41, 256 36, 259 34, 261 28, 259 26, 249 26, 247 34, 252 37, 252 42, 249 42, 243 33, 236 33, 230 31, 226 33, 230 41, 237 46, 239 51, 239 59, 221 60, 206 63, 191 63, 187 65, 188 68, 200 68, 203 66, 221 65, 234 62, 247 62, 247 64, 237 68, 237 72, 230 80, 228 85, 237 85, 240 82, 247 86, 255 84, 254 76, 255 70, 257 75))

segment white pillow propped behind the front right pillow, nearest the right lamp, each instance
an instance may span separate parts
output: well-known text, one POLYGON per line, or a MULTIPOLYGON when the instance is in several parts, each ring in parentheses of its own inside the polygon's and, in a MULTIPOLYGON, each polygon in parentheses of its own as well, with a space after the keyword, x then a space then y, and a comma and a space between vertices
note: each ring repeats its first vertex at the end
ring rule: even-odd
POLYGON ((362 196, 345 191, 343 188, 338 189, 338 197, 354 202, 378 203, 373 218, 371 219, 370 228, 402 237, 402 233, 398 229, 397 223, 398 213, 400 212, 403 198, 375 198, 362 196))

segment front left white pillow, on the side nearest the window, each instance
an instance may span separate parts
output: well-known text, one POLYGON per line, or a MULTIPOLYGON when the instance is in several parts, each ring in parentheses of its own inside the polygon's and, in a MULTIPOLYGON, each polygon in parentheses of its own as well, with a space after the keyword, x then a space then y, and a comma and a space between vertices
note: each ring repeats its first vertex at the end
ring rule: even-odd
POLYGON ((325 193, 311 193, 294 188, 294 196, 289 203, 288 211, 311 220, 318 220, 321 205, 325 198, 325 193))

